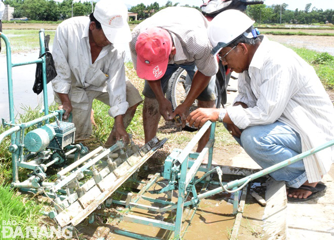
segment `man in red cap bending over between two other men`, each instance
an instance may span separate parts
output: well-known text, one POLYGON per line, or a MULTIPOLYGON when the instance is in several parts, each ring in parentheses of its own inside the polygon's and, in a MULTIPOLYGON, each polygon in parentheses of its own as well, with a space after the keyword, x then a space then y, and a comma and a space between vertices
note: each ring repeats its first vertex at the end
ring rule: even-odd
MULTIPOLYGON (((161 115, 165 120, 180 115, 185 125, 189 107, 196 98, 199 107, 214 107, 217 96, 211 76, 217 73, 218 63, 210 53, 212 45, 206 29, 207 20, 196 9, 170 7, 141 22, 132 31, 132 60, 138 76, 145 79, 145 142, 156 135, 161 115), (185 101, 173 112, 172 103, 164 94, 170 77, 179 67, 186 69, 192 84, 185 101)), ((209 134, 207 131, 199 141, 197 151, 203 149, 209 134)))

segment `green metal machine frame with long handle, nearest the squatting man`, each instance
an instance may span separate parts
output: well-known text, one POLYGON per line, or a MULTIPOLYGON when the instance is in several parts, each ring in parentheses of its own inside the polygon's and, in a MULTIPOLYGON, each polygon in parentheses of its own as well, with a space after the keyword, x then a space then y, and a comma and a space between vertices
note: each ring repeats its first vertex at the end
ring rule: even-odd
MULTIPOLYGON (((136 197, 135 201, 131 198, 131 196, 128 195, 127 201, 116 201, 112 200, 112 203, 114 204, 119 204, 125 206, 127 209, 126 215, 124 216, 123 214, 121 215, 113 215, 113 217, 118 218, 120 220, 126 220, 130 222, 135 222, 135 223, 140 223, 144 225, 150 225, 154 227, 159 227, 162 229, 167 229, 167 230, 172 230, 174 231, 174 239, 179 239, 182 238, 187 229, 182 230, 182 219, 184 215, 184 210, 186 207, 190 207, 193 211, 192 214, 190 215, 190 219, 193 218, 197 206, 199 205, 201 199, 210 197, 212 195, 215 195, 219 192, 225 191, 227 189, 233 189, 232 193, 234 194, 234 200, 233 200, 233 214, 237 214, 239 207, 239 196, 241 196, 241 189, 245 186, 247 186, 247 183, 249 181, 255 180, 257 178, 263 177, 271 172, 274 172, 278 169, 281 169, 287 165, 293 164, 297 161, 300 161, 306 156, 309 156, 311 154, 314 154, 318 151, 323 150, 324 148, 330 147, 334 145, 334 140, 329 141, 325 144, 322 144, 319 147, 310 149, 306 152, 303 152, 297 156, 291 157, 279 164, 276 164, 272 167, 269 167, 267 169, 264 169, 262 171, 256 172, 254 174, 251 174, 247 177, 234 180, 229 183, 221 183, 220 187, 217 187, 213 190, 210 191, 205 191, 206 187, 209 183, 210 180, 210 175, 215 172, 216 168, 212 168, 212 156, 213 156, 213 146, 214 146, 214 136, 215 136, 215 123, 211 123, 208 121, 207 123, 204 124, 204 126, 198 131, 198 133, 194 136, 194 138, 189 142, 189 144, 183 149, 174 149, 173 152, 166 158, 165 164, 164 164, 164 172, 163 172, 163 178, 169 180, 169 185, 159 189, 159 190, 153 190, 153 191, 148 191, 148 188, 152 186, 158 179, 159 175, 155 175, 154 178, 148 183, 148 186, 143 188, 140 193, 138 193, 138 196, 136 197), (201 138, 203 133, 212 125, 211 128, 211 135, 208 143, 206 144, 205 148, 203 149, 202 152, 200 153, 194 153, 191 152, 195 144, 198 142, 198 140, 201 138), (200 167, 202 163, 202 159, 204 155, 208 152, 208 164, 207 167, 200 167), (194 161, 190 160, 189 158, 195 158, 194 161), (196 173, 204 172, 204 176, 201 177, 200 179, 195 180, 195 175, 196 173), (205 179, 205 180, 204 180, 205 179), (195 184, 199 182, 203 182, 204 180, 204 186, 201 190, 205 192, 197 194, 196 189, 195 189, 195 184), (177 187, 176 187, 177 186, 177 187), (240 187, 241 186, 241 187, 240 187), (139 201, 139 198, 143 198, 147 201, 150 201, 152 203, 156 203, 157 199, 149 198, 143 196, 146 191, 150 193, 161 193, 161 192, 166 192, 169 196, 173 194, 174 190, 178 190, 178 201, 177 203, 173 203, 171 201, 171 197, 168 198, 168 201, 161 201, 159 200, 158 203, 166 205, 165 207, 162 208, 157 208, 157 207, 152 207, 148 205, 142 205, 138 204, 137 202, 139 201), (186 201, 185 199, 188 198, 189 193, 192 193, 193 196, 190 200, 186 201), (139 209, 145 209, 148 211, 153 211, 156 213, 163 213, 163 212, 168 212, 171 210, 176 210, 176 218, 174 223, 168 223, 164 221, 158 221, 155 219, 149 219, 149 218, 143 218, 143 217, 138 217, 135 215, 130 215, 129 211, 131 208, 139 208, 139 209)), ((217 167, 218 168, 218 167, 217 167)), ((219 172, 219 170, 217 170, 219 172)), ((211 182, 212 183, 212 182, 211 182)), ((245 189, 246 190, 246 189, 245 189)), ((124 193, 127 194, 127 193, 124 193)), ((129 193, 130 194, 130 193, 129 193)), ((245 191, 242 191, 242 195, 245 194, 245 191)), ((124 210, 123 210, 124 211, 124 210)), ((122 212, 123 212, 122 211, 122 212)), ((187 226, 188 227, 188 226, 187 226)), ((136 237, 138 239, 157 239, 156 237, 150 237, 147 235, 141 235, 138 233, 133 233, 127 230, 122 230, 122 229, 117 229, 114 232, 122 235, 126 235, 129 237, 136 237)))

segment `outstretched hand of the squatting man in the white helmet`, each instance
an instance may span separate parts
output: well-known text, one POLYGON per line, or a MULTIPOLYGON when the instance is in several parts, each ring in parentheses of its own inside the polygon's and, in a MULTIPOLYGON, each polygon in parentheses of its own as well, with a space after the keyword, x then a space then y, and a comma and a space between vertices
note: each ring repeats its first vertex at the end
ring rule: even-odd
POLYGON ((190 126, 194 125, 196 128, 202 127, 208 120, 217 122, 219 117, 218 108, 198 108, 191 112, 187 117, 187 122, 190 126))

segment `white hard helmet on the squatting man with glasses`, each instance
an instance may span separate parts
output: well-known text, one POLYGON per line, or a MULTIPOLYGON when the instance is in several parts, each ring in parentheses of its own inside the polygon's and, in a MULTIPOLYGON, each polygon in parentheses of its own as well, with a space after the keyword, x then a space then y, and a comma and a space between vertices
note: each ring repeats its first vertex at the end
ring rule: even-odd
POLYGON ((211 53, 217 54, 242 34, 248 38, 256 37, 252 33, 245 33, 253 23, 255 21, 237 10, 226 10, 218 14, 207 28, 208 38, 214 47, 211 53))

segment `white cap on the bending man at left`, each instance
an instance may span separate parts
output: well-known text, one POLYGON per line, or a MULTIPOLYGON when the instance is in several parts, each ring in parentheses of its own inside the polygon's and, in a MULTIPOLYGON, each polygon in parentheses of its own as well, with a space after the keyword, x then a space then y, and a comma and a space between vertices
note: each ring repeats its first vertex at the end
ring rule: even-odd
POLYGON ((121 1, 100 0, 93 13, 112 44, 129 43, 132 39, 128 24, 128 8, 121 1))

